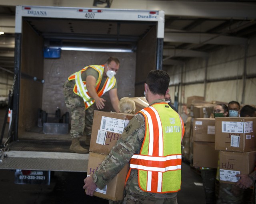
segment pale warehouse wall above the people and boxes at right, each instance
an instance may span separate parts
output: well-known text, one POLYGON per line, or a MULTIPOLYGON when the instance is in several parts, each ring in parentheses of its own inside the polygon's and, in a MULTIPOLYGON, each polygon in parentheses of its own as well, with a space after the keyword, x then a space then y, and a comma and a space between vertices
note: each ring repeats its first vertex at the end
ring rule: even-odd
POLYGON ((175 86, 179 86, 179 102, 188 96, 204 96, 206 101, 256 104, 256 37, 249 40, 248 47, 223 46, 209 53, 207 59, 194 58, 184 65, 164 67, 170 75, 170 94, 174 100, 175 86), (207 67, 207 73, 206 73, 207 67), (243 80, 244 67, 246 80, 243 80), (206 74, 206 84, 204 84, 206 74), (244 91, 243 91, 244 90, 244 91), (244 96, 243 96, 244 92, 244 96))

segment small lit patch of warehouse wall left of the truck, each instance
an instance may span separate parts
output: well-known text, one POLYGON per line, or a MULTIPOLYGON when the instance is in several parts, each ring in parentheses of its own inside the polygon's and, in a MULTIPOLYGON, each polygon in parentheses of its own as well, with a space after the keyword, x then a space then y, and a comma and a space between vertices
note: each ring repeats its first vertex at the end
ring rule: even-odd
POLYGON ((0 96, 8 96, 12 89, 13 74, 0 69, 0 96))

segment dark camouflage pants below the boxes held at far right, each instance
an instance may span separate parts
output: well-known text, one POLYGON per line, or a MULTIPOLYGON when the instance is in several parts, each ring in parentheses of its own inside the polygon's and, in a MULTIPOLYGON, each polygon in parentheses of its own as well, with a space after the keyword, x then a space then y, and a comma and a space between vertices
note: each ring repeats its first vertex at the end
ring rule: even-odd
POLYGON ((252 188, 242 189, 234 184, 219 183, 217 204, 252 204, 254 194, 252 188))

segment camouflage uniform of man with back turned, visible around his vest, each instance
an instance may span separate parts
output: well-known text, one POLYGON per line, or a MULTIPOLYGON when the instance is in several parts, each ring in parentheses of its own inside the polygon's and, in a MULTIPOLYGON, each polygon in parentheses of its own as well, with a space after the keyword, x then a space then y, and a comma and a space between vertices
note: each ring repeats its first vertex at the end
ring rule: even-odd
MULTIPOLYGON (((157 102, 165 102, 165 100, 155 100, 153 104, 157 102)), ((98 188, 104 188, 121 171, 124 165, 129 163, 132 155, 140 153, 144 135, 144 117, 142 114, 136 114, 124 129, 120 139, 106 156, 106 159, 98 167, 97 172, 93 174, 94 183, 98 188)), ((138 185, 137 169, 131 170, 130 177, 126 182, 124 196, 124 204, 177 203, 177 192, 161 194, 141 190, 138 185)))

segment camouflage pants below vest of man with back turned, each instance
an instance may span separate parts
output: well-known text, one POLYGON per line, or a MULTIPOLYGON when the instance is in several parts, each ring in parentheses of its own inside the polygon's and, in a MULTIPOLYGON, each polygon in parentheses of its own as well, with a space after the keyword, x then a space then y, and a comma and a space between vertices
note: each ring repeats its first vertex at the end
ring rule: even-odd
POLYGON ((173 198, 152 198, 125 191, 123 204, 178 204, 177 196, 173 198))

